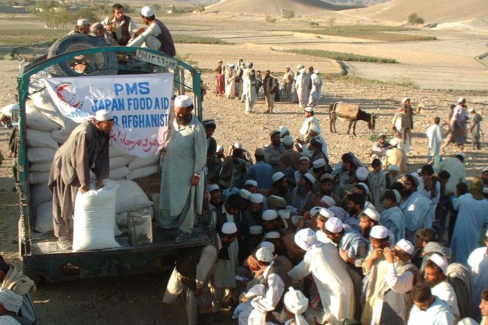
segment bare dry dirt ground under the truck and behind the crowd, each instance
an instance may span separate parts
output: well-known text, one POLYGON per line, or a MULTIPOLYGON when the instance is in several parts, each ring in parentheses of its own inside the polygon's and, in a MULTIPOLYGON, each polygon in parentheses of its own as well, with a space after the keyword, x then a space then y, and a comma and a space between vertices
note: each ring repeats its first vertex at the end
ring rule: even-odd
MULTIPOLYGON (((247 17, 240 19, 242 22, 247 17)), ((257 24, 255 18, 252 17, 249 18, 249 22, 250 24, 257 24)), ((195 22, 195 19, 191 18, 188 19, 188 25, 185 28, 187 32, 191 33, 191 31, 200 28, 200 26, 195 22), (191 24, 194 25, 192 26, 191 24)), ((237 33, 236 36, 242 37, 245 33, 242 28, 238 30, 237 24, 233 28, 237 33)), ((202 28, 202 32, 208 30, 209 27, 202 28)), ((234 33, 234 30, 232 33, 234 33)), ((181 30, 179 31, 179 33, 182 32, 181 30)), ((206 33, 206 35, 209 34, 206 33)), ((475 38, 476 40, 472 44, 480 42, 478 36, 475 38)), ((270 42, 270 39, 268 37, 267 42, 270 42)), ((459 42, 466 42, 466 38, 462 40, 462 36, 455 34, 446 34, 447 39, 454 40, 451 44, 457 44, 455 45, 456 47, 460 44, 459 42)), ((234 37, 233 41, 235 40, 237 40, 237 37, 234 37)), ((254 67, 261 70, 272 68, 275 71, 280 71, 284 65, 293 66, 298 63, 316 65, 325 72, 334 72, 338 67, 336 63, 330 60, 318 60, 317 58, 312 59, 304 56, 295 56, 290 53, 282 54, 277 51, 271 51, 269 44, 262 40, 263 35, 256 35, 254 39, 242 40, 234 47, 178 44, 177 49, 187 53, 191 60, 197 61, 200 67, 205 68, 213 68, 220 58, 225 60, 225 62, 235 62, 239 56, 244 56, 246 60, 252 60, 254 67), (257 40, 257 42, 254 42, 254 40, 257 40), (250 45, 251 43, 259 43, 259 46, 250 45)), ((301 35, 293 38, 293 40, 296 40, 297 44, 300 43, 300 46, 311 46, 310 44, 316 46, 316 43, 313 43, 311 39, 303 38, 301 35), (301 44, 299 39, 304 40, 308 45, 301 44)), ((478 53, 481 45, 476 45, 475 49, 470 48, 470 52, 466 54, 455 51, 456 55, 462 56, 462 58, 459 58, 447 56, 449 43, 445 43, 445 49, 442 49, 442 51, 444 51, 443 53, 446 56, 435 63, 437 54, 434 49, 439 44, 444 44, 444 42, 411 44, 410 47, 408 44, 381 44, 380 47, 377 47, 378 44, 340 44, 335 41, 337 40, 330 40, 329 44, 322 44, 321 46, 324 49, 326 47, 343 51, 354 49, 354 52, 359 54, 398 58, 400 63, 408 65, 407 69, 416 65, 417 74, 423 73, 423 76, 416 76, 419 79, 424 78, 424 76, 425 78, 430 76, 432 69, 440 69, 442 73, 438 76, 439 80, 437 83, 428 85, 427 83, 419 82, 418 84, 421 85, 421 88, 446 88, 439 87, 444 82, 456 85, 456 73, 463 74, 464 69, 467 68, 476 72, 475 76, 473 76, 473 85, 478 81, 486 81, 488 76, 485 67, 482 67, 482 65, 479 65, 479 67, 475 66, 474 63, 468 60, 468 57, 472 60, 473 56, 481 54, 478 53), (409 49, 416 50, 407 53, 409 49), (423 49, 429 49, 432 54, 422 56, 421 51, 423 49), (471 50, 476 53, 471 53, 471 50), (403 53, 401 58, 399 57, 400 53, 403 53), (425 60, 425 62, 422 60, 425 60), (447 69, 449 76, 444 78, 447 69)), ((298 45, 295 45, 293 44, 293 47, 298 47, 298 45)), ((15 102, 17 65, 18 62, 15 61, 0 61, 3 85, 0 90, 0 106, 15 102)), ((361 76, 370 76, 376 70, 380 71, 380 73, 375 78, 387 78, 392 74, 396 74, 394 69, 389 72, 391 65, 367 65, 367 69, 366 67, 362 68, 359 64, 352 65, 352 67, 357 69, 358 74, 361 76)), ((401 67, 401 65, 398 65, 398 67, 401 67)), ((434 79, 432 78, 432 80, 434 79)), ((466 81, 467 83, 468 79, 469 77, 465 77, 462 81, 457 80, 459 88, 449 85, 447 89, 477 89, 471 86, 463 86, 463 82, 466 81)), ((412 80, 415 81, 414 78, 412 80)), ((244 115, 244 104, 241 101, 220 99, 213 95, 212 74, 204 74, 204 81, 209 87, 208 95, 204 100, 204 117, 216 119, 218 126, 215 138, 218 144, 226 147, 226 151, 229 145, 236 141, 243 142, 248 150, 254 151, 256 147, 268 144, 268 131, 281 125, 288 126, 294 138, 298 136, 298 130, 304 120, 304 116, 302 110, 298 109, 296 104, 277 103, 275 107, 276 113, 268 115, 263 114, 266 108, 263 100, 260 100, 254 108, 256 113, 244 115)), ((486 85, 487 83, 485 82, 484 84, 486 85)), ((425 163, 427 153, 425 131, 432 122, 433 117, 439 116, 442 120, 446 119, 449 104, 453 103, 457 97, 463 95, 462 92, 448 93, 427 89, 387 87, 377 84, 326 82, 323 87, 323 97, 320 100, 320 106, 316 110, 316 116, 323 128, 324 138, 327 141, 333 165, 347 151, 355 152, 362 161, 367 163, 369 161, 368 152, 373 144, 371 135, 388 133, 391 117, 396 108, 400 106, 402 97, 408 96, 412 98, 414 106, 420 103, 423 107, 421 115, 415 117, 412 152, 409 156, 409 170, 415 171, 425 163), (368 131, 364 122, 358 122, 357 137, 349 137, 345 135, 345 123, 339 121, 337 126, 339 134, 331 134, 328 126, 327 107, 329 103, 334 101, 359 103, 368 112, 377 113, 380 117, 377 119, 377 128, 374 133, 368 131)), ((466 97, 469 107, 475 108, 485 120, 488 119, 487 98, 466 97)), ((483 129, 486 128, 486 123, 483 122, 483 129)), ((8 131, 2 128, 0 129, 0 151, 4 156, 7 156, 7 142, 8 131)), ((470 144, 468 144, 469 146, 470 144)), ((466 171, 470 179, 473 176, 478 176, 480 170, 487 167, 488 151, 485 146, 481 151, 466 149, 466 171)), ((453 153, 455 153, 455 149, 450 147, 446 154, 452 155, 453 153)), ((19 266, 21 264, 17 253, 19 207, 17 206, 17 196, 15 192, 12 192, 14 181, 10 163, 10 160, 6 160, 0 166, 0 197, 2 200, 0 205, 0 253, 11 263, 19 266)), ((161 303, 168 276, 169 274, 145 274, 143 276, 97 278, 55 285, 40 285, 38 291, 33 295, 35 308, 40 317, 39 324, 186 324, 186 315, 181 299, 169 306, 163 306, 161 303)), ((234 324, 228 317, 226 322, 227 324, 234 324)))

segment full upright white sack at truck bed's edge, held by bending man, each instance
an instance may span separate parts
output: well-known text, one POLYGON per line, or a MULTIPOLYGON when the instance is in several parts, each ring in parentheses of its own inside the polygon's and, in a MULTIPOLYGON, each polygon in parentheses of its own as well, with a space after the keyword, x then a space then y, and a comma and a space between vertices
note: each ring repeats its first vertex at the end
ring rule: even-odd
POLYGON ((73 250, 120 247, 115 241, 115 196, 119 183, 105 181, 103 188, 78 192, 74 201, 73 250))

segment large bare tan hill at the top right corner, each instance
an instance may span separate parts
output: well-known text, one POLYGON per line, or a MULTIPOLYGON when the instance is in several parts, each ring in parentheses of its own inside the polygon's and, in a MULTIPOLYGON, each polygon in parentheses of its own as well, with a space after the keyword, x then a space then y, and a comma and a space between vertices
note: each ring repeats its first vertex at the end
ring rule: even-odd
POLYGON ((426 23, 459 22, 488 16, 487 0, 391 0, 343 13, 389 22, 405 22, 416 12, 426 23))

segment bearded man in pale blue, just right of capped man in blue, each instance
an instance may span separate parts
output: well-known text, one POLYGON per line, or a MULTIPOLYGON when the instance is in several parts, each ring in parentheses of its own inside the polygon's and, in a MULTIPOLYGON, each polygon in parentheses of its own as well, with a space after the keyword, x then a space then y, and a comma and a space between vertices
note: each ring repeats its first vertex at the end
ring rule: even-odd
POLYGON ((418 229, 430 228, 425 225, 430 208, 430 199, 422 196, 417 191, 418 179, 415 176, 407 175, 403 178, 403 188, 400 192, 402 201, 400 210, 405 217, 405 239, 415 241, 415 234, 418 229))

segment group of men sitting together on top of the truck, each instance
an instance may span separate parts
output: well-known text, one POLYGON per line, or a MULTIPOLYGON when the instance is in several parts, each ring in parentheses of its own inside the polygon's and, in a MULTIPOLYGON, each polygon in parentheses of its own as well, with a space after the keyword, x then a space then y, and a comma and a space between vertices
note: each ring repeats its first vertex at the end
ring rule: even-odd
POLYGON ((88 34, 102 38, 107 46, 144 47, 175 56, 171 33, 161 20, 156 19, 154 10, 149 6, 143 7, 140 19, 145 27, 138 28, 133 19, 124 14, 124 6, 116 3, 112 6, 111 15, 102 22, 90 24, 88 19, 79 19, 68 35, 88 34))

